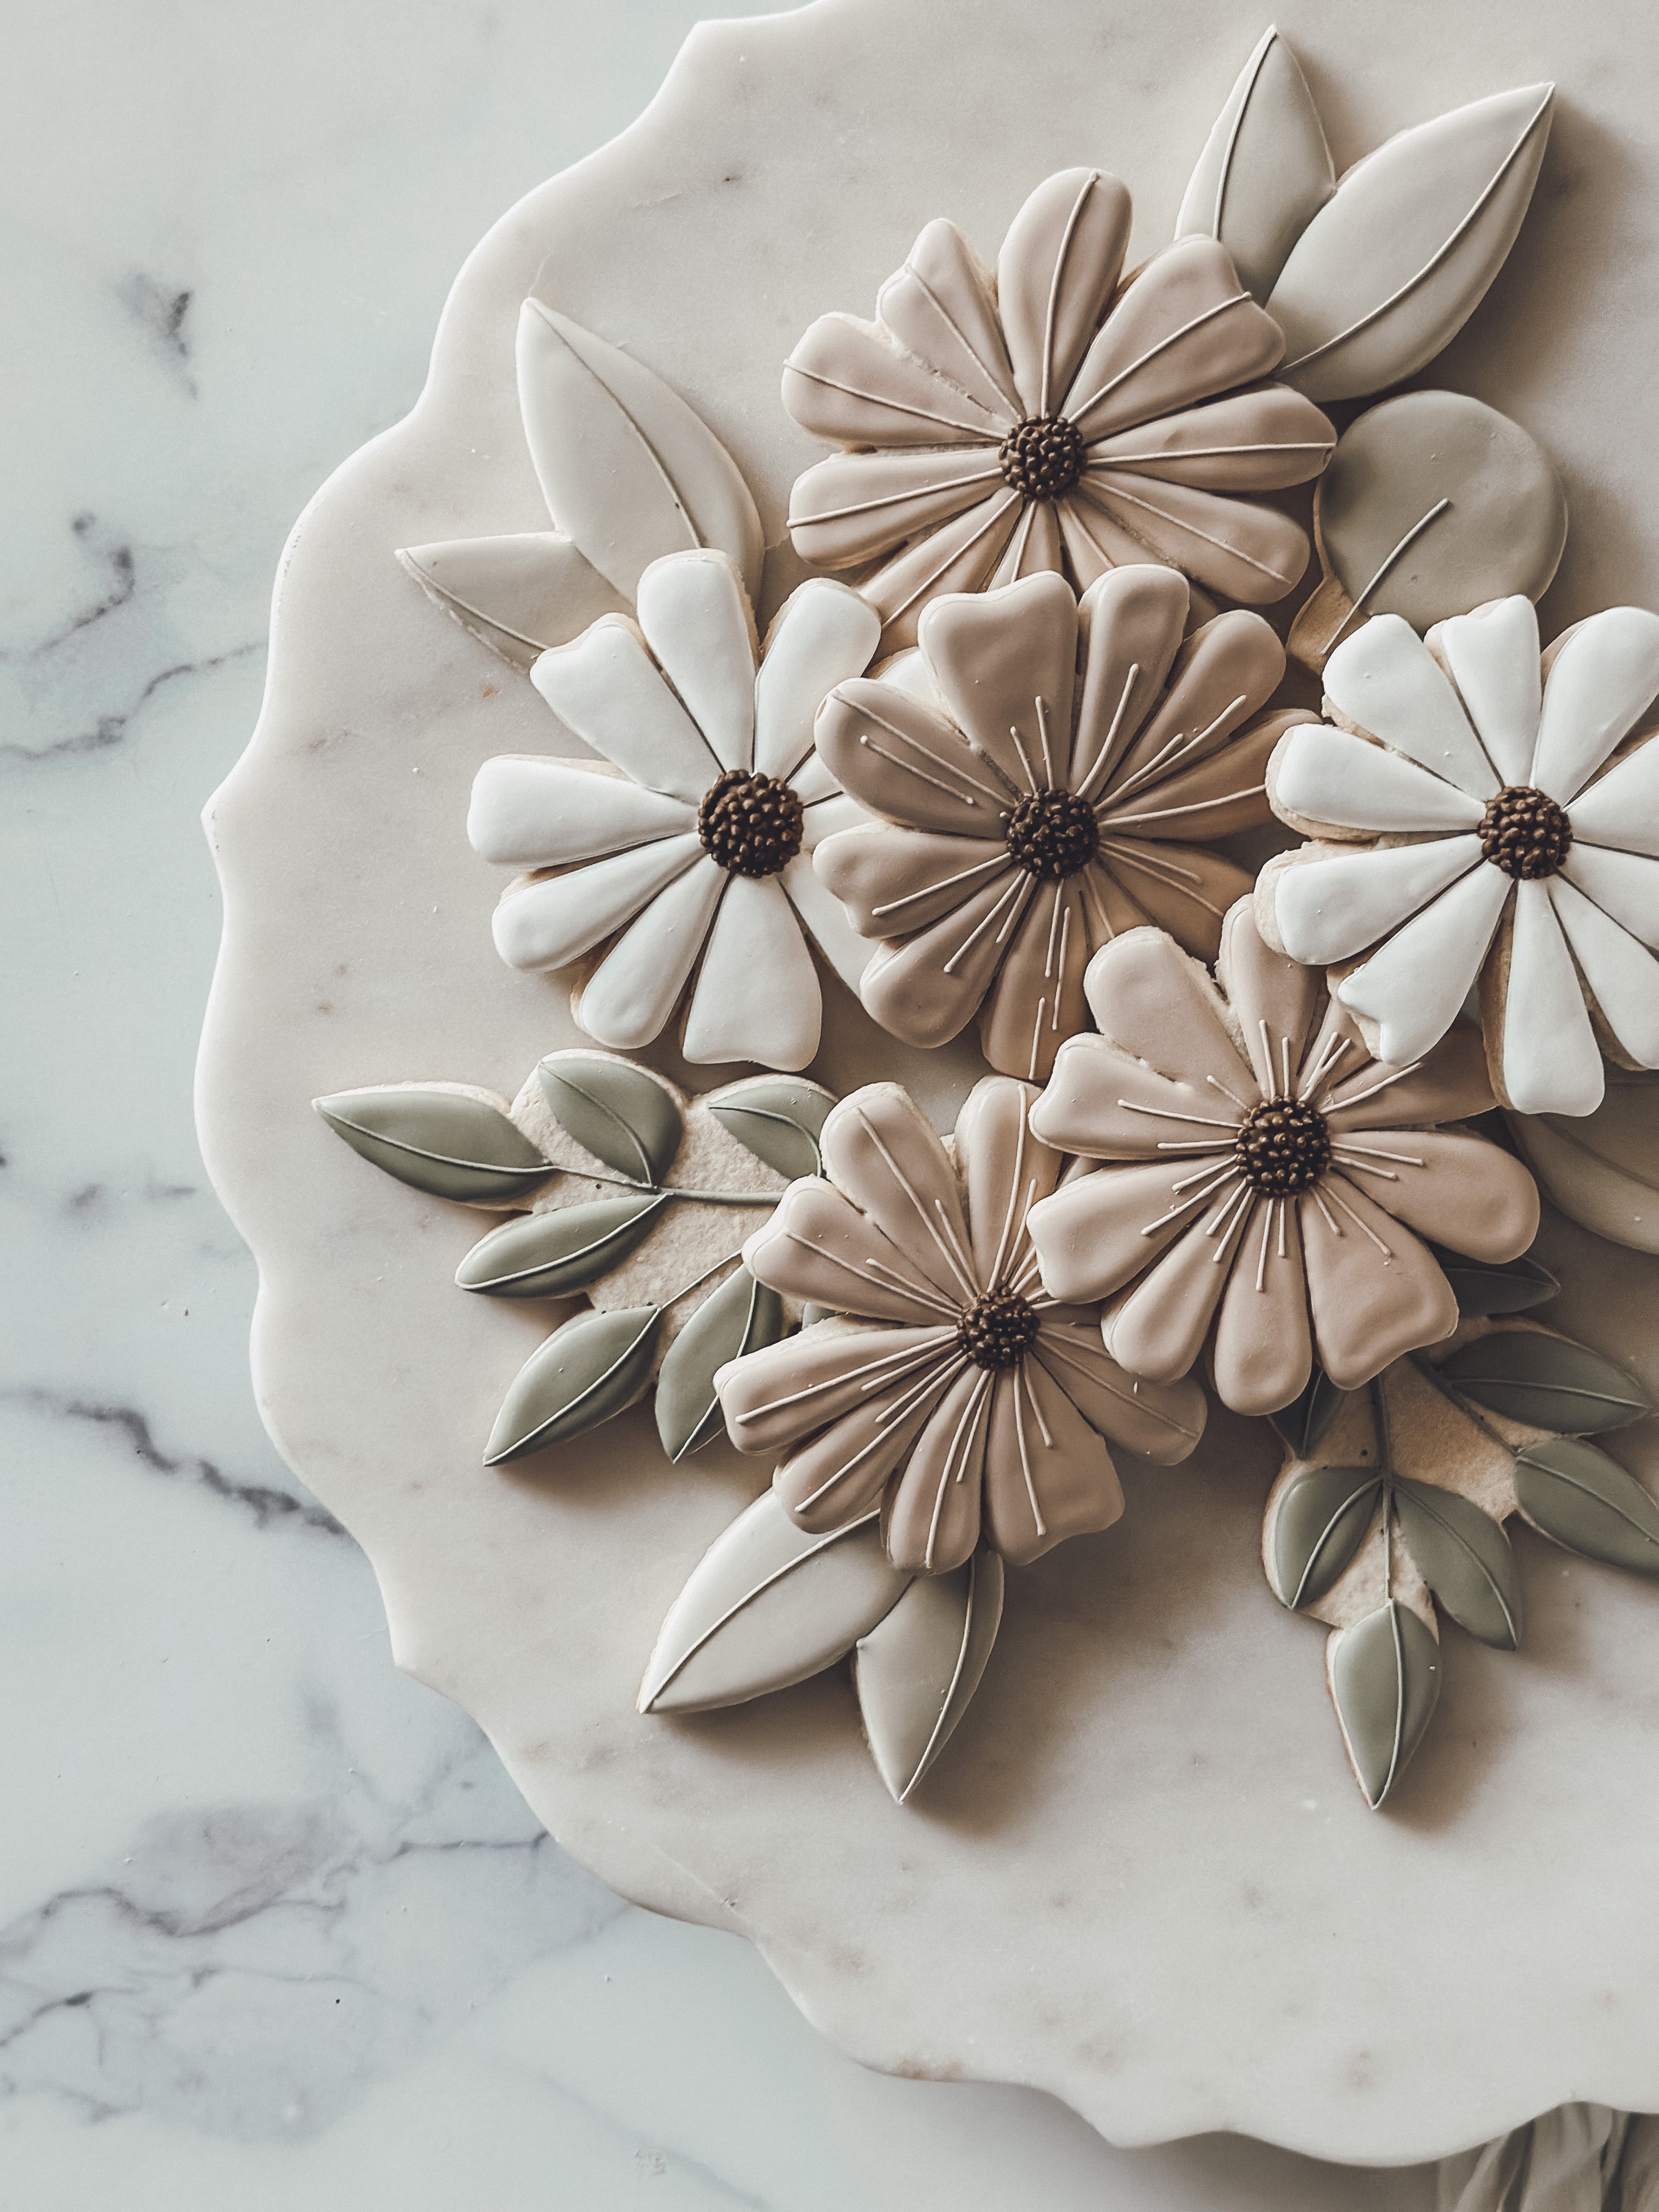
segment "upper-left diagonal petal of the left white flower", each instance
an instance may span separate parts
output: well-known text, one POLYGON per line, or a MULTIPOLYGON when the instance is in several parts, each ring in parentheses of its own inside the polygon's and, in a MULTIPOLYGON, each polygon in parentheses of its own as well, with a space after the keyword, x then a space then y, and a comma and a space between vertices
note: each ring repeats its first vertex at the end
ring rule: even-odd
POLYGON ((544 653, 531 684, 562 723, 646 790, 697 805, 719 776, 697 723, 622 617, 606 615, 575 644, 544 653))

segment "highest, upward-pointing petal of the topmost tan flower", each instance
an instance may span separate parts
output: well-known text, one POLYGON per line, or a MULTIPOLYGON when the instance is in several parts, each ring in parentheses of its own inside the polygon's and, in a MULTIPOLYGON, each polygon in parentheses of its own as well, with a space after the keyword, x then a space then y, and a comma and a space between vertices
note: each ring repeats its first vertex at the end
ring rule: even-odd
POLYGON ((1091 168, 1046 177, 1009 226, 998 307, 1029 416, 1060 411, 1117 285, 1128 226, 1128 190, 1091 168))

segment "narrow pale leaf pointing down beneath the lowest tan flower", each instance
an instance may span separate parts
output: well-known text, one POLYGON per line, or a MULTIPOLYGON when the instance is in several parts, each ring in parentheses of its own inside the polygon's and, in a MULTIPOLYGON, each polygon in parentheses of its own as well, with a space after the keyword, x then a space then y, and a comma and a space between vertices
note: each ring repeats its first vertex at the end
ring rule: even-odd
POLYGON ((852 1679, 869 1756, 902 1805, 980 1688, 1002 1624, 1002 1559, 975 1551, 951 1575, 918 1575, 858 1639, 852 1679))

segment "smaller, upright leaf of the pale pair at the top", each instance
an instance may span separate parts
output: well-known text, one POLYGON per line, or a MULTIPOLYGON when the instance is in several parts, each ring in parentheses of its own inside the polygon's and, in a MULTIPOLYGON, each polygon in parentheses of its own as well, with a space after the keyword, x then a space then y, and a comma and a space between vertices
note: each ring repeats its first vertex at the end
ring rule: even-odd
POLYGON ((1210 131, 1175 234, 1221 239, 1265 301, 1292 246, 1336 190, 1325 128, 1279 31, 1265 31, 1210 131))

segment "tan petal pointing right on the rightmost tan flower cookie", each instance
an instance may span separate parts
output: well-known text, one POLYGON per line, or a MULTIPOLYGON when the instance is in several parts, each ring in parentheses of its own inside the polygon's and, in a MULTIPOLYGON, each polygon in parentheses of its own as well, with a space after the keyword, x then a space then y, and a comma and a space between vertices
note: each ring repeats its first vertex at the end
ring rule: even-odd
POLYGON ((1378 1128, 1334 1144, 1347 1179, 1418 1237, 1486 1261, 1517 1259, 1537 1237, 1537 1183, 1484 1137, 1378 1128))

